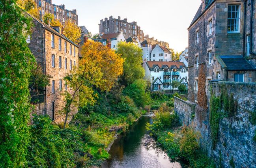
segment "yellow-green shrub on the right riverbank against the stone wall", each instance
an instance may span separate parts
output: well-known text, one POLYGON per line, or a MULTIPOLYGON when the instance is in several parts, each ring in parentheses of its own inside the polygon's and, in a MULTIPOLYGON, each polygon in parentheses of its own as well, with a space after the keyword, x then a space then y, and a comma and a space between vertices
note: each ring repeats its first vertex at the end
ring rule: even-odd
POLYGON ((185 158, 194 156, 196 150, 199 149, 198 141, 200 138, 200 133, 194 132, 194 130, 191 127, 183 127, 181 133, 183 134, 183 136, 179 142, 179 150, 181 151, 185 158))

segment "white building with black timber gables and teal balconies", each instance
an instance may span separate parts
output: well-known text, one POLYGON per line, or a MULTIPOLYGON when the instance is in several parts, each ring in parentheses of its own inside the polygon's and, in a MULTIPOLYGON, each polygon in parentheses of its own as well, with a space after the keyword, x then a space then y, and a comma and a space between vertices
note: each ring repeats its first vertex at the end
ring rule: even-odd
POLYGON ((151 83, 151 90, 172 90, 171 83, 176 80, 187 87, 188 72, 183 62, 148 61, 143 64, 145 78, 151 83))

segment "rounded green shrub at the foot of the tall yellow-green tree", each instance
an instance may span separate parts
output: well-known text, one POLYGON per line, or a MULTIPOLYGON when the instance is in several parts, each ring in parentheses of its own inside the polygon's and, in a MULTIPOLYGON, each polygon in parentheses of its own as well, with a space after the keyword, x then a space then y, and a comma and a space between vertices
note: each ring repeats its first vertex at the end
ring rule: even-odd
POLYGON ((149 93, 146 92, 146 81, 142 79, 135 80, 123 93, 131 97, 137 107, 144 108, 150 101, 149 93))

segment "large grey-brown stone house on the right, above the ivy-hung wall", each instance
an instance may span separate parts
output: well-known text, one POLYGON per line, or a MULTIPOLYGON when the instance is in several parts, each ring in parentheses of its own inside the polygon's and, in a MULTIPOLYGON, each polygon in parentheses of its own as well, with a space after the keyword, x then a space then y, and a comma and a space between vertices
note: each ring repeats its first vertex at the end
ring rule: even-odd
MULTIPOLYGON (((210 80, 255 82, 256 44, 250 40, 250 8, 255 1, 202 0, 189 31, 189 100, 197 102, 199 70, 210 80), (247 1, 249 3, 247 3, 247 1), (252 1, 253 2, 253 1, 252 1), (250 48, 250 46, 252 46, 250 48)), ((254 21, 255 18, 252 17, 254 21)), ((254 39, 254 38, 253 38, 254 39)))

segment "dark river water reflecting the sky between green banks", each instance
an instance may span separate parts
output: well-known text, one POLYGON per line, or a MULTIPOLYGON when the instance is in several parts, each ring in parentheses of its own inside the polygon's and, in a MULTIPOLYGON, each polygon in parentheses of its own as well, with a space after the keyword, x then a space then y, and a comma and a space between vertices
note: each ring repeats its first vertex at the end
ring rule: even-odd
POLYGON ((143 116, 129 131, 118 136, 109 151, 110 159, 101 168, 181 168, 155 145, 145 128, 146 122, 151 123, 151 117, 143 116))

